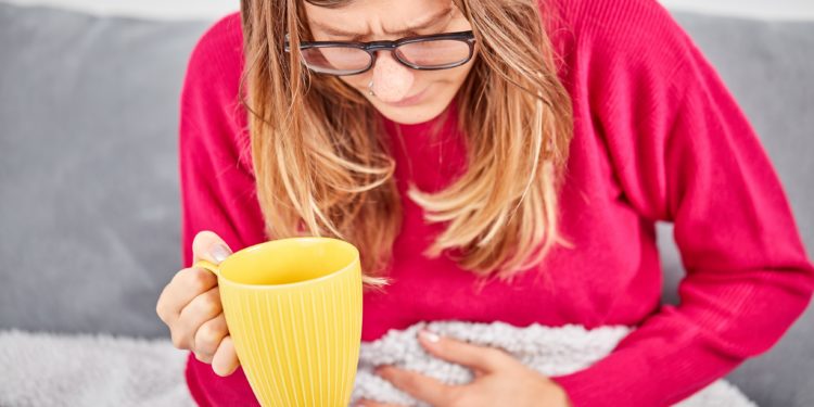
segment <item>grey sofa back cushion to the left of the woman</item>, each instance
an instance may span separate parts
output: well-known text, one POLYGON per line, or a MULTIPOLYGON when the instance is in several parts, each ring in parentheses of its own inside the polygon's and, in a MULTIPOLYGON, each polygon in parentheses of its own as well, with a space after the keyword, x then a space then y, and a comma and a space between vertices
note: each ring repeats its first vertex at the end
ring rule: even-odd
POLYGON ((0 328, 166 335, 178 99, 208 25, 0 3, 0 328))

